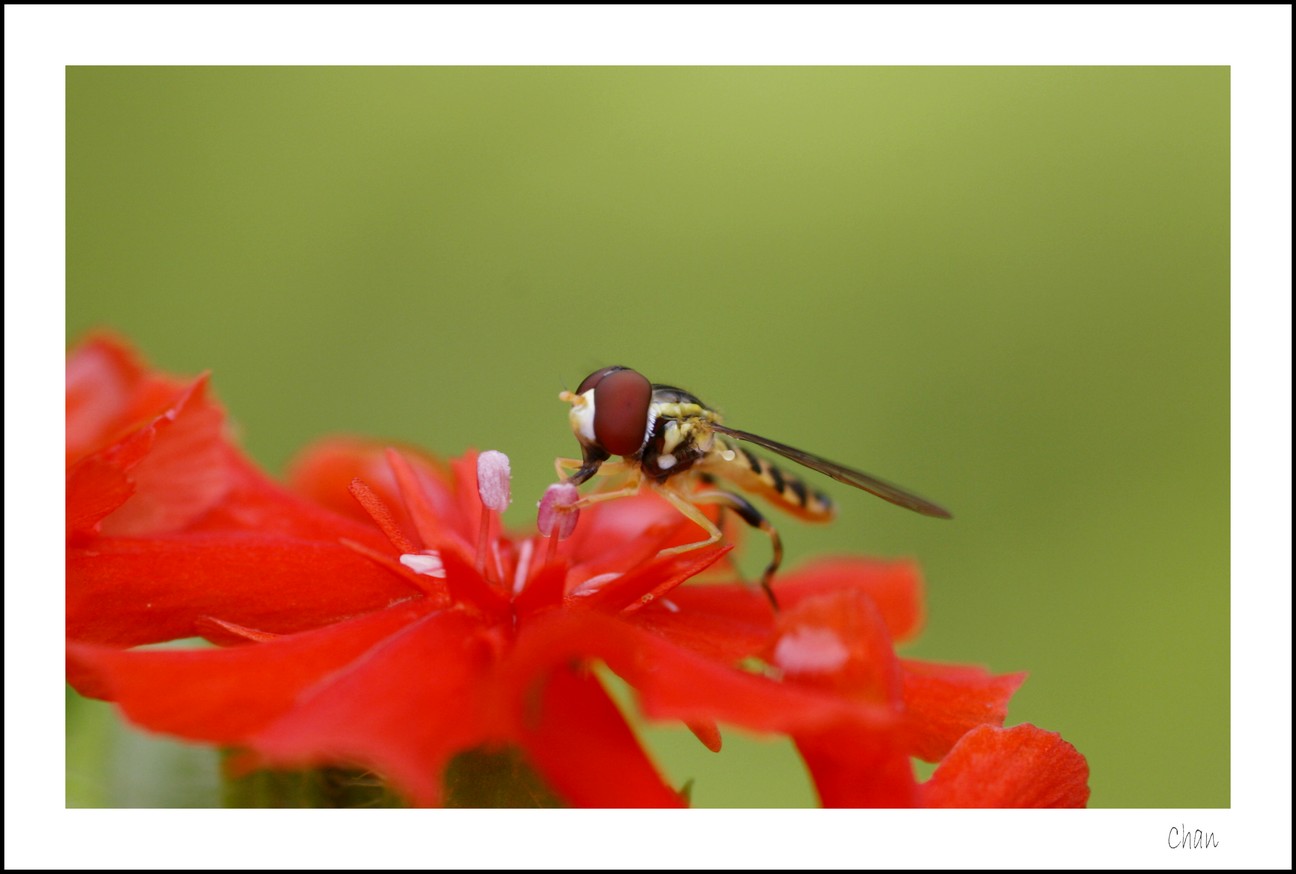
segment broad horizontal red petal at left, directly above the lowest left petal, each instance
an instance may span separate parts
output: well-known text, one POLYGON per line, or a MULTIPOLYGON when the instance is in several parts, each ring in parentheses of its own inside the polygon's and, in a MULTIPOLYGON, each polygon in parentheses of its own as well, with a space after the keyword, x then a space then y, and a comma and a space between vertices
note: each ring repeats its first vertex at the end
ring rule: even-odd
POLYGON ((67 552, 67 637, 172 641, 196 634, 200 616, 283 634, 419 594, 340 543, 259 534, 101 538, 67 552))

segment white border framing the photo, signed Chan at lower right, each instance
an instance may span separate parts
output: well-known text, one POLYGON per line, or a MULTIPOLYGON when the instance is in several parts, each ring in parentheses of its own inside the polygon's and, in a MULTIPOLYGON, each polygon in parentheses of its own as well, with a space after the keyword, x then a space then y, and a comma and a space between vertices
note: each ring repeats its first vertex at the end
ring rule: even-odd
POLYGON ((1290 6, 6 5, 4 23, 5 868, 1291 868, 1290 6), (1231 65, 1232 809, 338 814, 346 830, 320 812, 64 810, 44 620, 62 595, 47 473, 67 64, 1231 65), (1181 822, 1220 847, 1168 855, 1181 822))

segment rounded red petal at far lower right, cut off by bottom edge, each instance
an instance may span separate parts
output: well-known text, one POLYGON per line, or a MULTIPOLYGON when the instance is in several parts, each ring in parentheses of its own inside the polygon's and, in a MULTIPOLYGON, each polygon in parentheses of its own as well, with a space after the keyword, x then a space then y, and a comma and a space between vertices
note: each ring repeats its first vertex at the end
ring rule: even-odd
POLYGON ((921 795, 937 808, 1081 808, 1089 762, 1054 731, 982 725, 955 744, 921 795))

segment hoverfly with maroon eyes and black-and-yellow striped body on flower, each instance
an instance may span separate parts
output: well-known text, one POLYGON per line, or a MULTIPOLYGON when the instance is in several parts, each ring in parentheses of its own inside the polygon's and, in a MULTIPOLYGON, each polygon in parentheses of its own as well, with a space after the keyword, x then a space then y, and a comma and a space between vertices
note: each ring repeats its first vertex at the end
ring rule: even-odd
POLYGON ((629 367, 597 370, 586 376, 575 392, 562 392, 559 398, 572 405, 568 415, 582 453, 581 459, 560 458, 555 462, 559 477, 574 471, 566 477, 568 482, 581 485, 595 475, 630 473, 623 488, 586 495, 579 504, 623 498, 644 486, 653 489, 706 532, 705 539, 662 550, 661 555, 687 552, 719 541, 721 529, 697 504, 728 507, 748 525, 770 536, 774 558, 761 574, 761 587, 775 609, 779 604, 770 582, 783 563, 779 533, 745 498, 713 488, 715 481, 727 480, 806 521, 829 521, 836 508, 828 495, 750 453, 737 441, 778 453, 924 516, 951 517, 943 507, 868 473, 723 425, 719 414, 697 397, 673 385, 652 384, 629 367), (619 455, 622 460, 610 462, 613 455, 619 455), (697 478, 708 488, 693 488, 697 478))

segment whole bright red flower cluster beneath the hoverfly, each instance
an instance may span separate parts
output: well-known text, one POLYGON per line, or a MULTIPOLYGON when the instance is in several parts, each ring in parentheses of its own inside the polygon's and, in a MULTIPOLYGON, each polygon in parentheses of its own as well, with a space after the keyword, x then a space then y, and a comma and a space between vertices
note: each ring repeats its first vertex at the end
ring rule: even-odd
POLYGON ((561 543, 502 536, 476 456, 446 471, 360 441, 307 453, 286 490, 226 438, 203 377, 106 338, 69 362, 67 415, 69 679, 150 730, 363 765, 417 804, 476 750, 521 751, 569 804, 680 804, 603 661, 713 750, 718 722, 793 737, 826 804, 1087 797, 1069 744, 993 727, 1023 676, 896 657, 920 622, 911 564, 787 574, 775 615, 745 585, 680 586, 728 547, 657 558, 696 532, 651 495, 595 504, 561 543), (126 648, 194 635, 220 648, 126 648), (919 785, 910 756, 945 761, 919 785))

